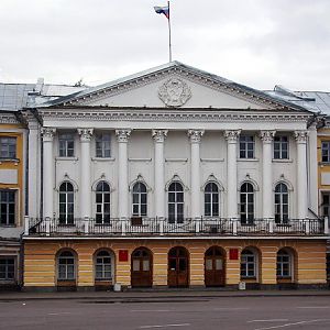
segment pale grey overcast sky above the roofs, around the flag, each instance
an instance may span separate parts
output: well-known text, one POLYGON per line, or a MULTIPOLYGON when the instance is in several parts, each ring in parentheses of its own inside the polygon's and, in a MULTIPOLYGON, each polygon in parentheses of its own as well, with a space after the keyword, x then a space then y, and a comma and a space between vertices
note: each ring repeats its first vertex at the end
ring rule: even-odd
MULTIPOLYGON (((0 0, 0 81, 98 85, 168 62, 165 0, 0 0)), ((172 0, 173 58, 330 91, 330 0, 172 0)))

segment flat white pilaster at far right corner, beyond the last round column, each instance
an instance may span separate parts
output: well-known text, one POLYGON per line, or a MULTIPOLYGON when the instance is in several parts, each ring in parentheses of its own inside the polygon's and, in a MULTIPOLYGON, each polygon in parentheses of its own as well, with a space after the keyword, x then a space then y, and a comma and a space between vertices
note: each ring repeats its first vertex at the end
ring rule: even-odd
POLYGON ((309 154, 309 205, 315 213, 318 213, 318 132, 316 123, 308 130, 308 154, 309 154))

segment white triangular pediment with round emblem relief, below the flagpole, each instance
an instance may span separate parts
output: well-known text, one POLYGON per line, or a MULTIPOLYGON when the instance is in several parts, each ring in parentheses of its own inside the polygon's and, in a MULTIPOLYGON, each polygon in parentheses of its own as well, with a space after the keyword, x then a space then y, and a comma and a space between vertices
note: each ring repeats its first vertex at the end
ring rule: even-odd
POLYGON ((169 109, 297 109, 294 105, 272 98, 262 91, 178 62, 86 89, 58 99, 53 105, 169 109))

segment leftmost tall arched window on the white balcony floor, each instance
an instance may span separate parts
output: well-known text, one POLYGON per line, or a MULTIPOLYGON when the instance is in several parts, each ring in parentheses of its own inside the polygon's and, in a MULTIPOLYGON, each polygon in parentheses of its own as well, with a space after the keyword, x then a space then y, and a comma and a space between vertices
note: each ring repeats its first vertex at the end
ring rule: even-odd
POLYGON ((59 187, 59 223, 74 224, 75 209, 74 186, 70 183, 63 183, 59 187))

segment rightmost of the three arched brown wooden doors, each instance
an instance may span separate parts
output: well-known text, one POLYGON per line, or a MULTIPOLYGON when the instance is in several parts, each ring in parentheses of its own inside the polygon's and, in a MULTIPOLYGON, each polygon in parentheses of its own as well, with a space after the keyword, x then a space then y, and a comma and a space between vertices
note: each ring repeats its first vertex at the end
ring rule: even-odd
POLYGON ((218 246, 210 248, 205 254, 205 285, 224 286, 224 254, 218 246))

